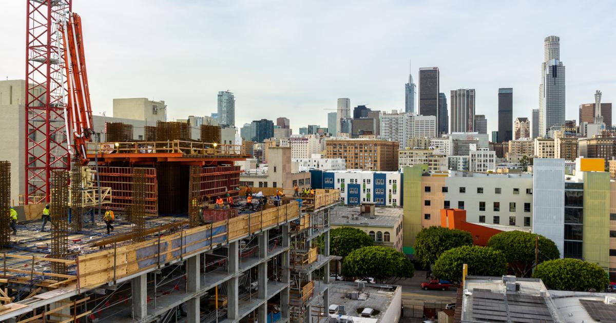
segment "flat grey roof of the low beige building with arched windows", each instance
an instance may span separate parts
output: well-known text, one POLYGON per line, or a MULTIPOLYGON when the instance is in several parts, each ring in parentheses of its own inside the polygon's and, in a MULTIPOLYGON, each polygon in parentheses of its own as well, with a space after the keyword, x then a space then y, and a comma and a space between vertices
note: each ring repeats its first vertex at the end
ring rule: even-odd
POLYGON ((394 227, 403 217, 404 210, 399 207, 375 207, 374 217, 362 215, 359 206, 339 205, 330 209, 330 225, 340 226, 383 226, 394 227), (352 217, 357 215, 357 217, 352 217))

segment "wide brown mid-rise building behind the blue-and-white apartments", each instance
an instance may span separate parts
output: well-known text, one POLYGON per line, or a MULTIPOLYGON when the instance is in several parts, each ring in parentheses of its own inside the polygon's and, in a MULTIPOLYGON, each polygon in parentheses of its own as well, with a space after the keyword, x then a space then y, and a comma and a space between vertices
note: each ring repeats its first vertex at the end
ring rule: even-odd
POLYGON ((344 159, 347 169, 397 170, 398 143, 368 138, 328 140, 326 158, 344 159))

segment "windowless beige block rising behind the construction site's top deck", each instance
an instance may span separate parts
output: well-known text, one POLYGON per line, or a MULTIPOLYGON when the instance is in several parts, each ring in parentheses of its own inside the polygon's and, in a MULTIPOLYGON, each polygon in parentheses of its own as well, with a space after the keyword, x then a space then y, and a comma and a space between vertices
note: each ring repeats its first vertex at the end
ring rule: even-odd
POLYGON ((164 101, 154 101, 148 98, 114 98, 113 116, 143 120, 148 126, 155 126, 156 121, 166 121, 167 106, 164 101))

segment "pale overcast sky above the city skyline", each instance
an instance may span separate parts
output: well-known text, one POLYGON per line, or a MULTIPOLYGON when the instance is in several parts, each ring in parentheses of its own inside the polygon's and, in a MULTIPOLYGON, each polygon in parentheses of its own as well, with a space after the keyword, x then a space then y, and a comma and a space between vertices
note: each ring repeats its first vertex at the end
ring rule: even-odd
MULTIPOLYGON (((25 1, 0 4, 0 78, 25 78, 25 1)), ((409 71, 438 66, 440 92, 476 89, 497 130, 498 88, 513 116, 538 108, 543 39, 561 38, 566 118, 616 97, 613 1, 73 0, 81 15, 94 114, 113 98, 164 100, 168 118, 209 116, 235 94, 235 123, 286 117, 327 126, 340 97, 404 109, 409 71), (334 110, 328 110, 334 109, 334 110)))

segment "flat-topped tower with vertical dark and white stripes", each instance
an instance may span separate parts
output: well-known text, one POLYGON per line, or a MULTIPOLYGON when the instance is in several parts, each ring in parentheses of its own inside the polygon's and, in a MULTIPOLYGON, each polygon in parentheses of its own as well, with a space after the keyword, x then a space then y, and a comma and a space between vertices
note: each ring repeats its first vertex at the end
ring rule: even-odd
POLYGON ((451 106, 451 132, 474 132, 475 89, 452 90, 449 96, 451 106))

